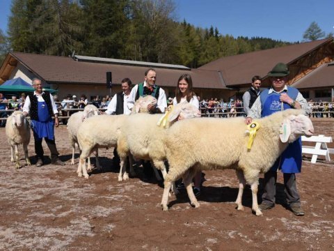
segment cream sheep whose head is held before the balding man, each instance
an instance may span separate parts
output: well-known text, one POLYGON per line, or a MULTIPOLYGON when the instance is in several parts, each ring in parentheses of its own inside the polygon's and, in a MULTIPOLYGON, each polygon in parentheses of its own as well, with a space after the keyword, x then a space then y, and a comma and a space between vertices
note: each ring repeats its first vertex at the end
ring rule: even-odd
MULTIPOLYGON (((139 98, 132 109, 133 113, 148 112, 148 104, 157 105, 157 99, 152 96, 139 98)), ((118 137, 122 130, 124 121, 129 115, 101 115, 93 116, 84 121, 77 132, 77 139, 81 149, 81 155, 78 165, 78 176, 84 175, 88 178, 85 159, 90 153, 98 148, 116 147, 118 137)), ((134 116, 134 115, 130 115, 134 116)))

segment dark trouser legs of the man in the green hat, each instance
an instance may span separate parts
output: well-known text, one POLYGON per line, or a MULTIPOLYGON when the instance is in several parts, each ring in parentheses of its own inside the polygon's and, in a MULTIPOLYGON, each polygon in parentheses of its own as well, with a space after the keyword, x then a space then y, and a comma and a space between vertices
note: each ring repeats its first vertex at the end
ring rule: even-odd
MULTIPOLYGON (((283 178, 287 204, 298 204, 301 206, 301 198, 299 197, 296 186, 296 175, 283 174, 283 178)), ((262 195, 262 203, 269 205, 275 204, 276 180, 277 172, 267 172, 264 174, 264 192, 262 195)))

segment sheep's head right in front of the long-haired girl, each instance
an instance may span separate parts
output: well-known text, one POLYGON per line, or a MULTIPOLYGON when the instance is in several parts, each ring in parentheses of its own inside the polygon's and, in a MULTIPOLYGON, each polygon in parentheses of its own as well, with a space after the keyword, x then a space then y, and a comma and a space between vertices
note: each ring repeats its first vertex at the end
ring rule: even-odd
POLYGON ((168 116, 168 121, 172 122, 196 117, 200 117, 200 110, 189 104, 189 102, 181 102, 173 107, 173 111, 168 116))

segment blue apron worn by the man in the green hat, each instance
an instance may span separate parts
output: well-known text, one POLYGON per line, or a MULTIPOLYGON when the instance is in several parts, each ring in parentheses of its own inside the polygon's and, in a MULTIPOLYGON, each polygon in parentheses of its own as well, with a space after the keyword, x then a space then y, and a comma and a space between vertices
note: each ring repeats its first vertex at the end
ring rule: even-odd
MULTIPOLYGON (((270 93, 262 105, 262 117, 269 116, 274 112, 281 111, 282 102, 280 102, 280 93, 270 93)), ((283 102, 283 109, 291 107, 283 102)), ((273 164, 270 172, 276 172, 277 169, 282 169, 285 174, 295 174, 301 172, 301 138, 289 144, 287 149, 278 157, 273 164)))

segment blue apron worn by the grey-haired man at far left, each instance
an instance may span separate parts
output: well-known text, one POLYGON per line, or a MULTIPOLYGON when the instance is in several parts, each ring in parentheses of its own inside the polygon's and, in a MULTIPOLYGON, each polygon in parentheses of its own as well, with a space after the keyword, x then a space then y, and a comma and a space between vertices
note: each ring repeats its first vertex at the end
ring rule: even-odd
POLYGON ((47 103, 45 101, 38 102, 38 121, 31 120, 33 133, 38 136, 39 139, 47 137, 48 139, 54 139, 54 121, 52 120, 49 109, 47 109, 47 103))

